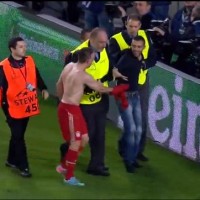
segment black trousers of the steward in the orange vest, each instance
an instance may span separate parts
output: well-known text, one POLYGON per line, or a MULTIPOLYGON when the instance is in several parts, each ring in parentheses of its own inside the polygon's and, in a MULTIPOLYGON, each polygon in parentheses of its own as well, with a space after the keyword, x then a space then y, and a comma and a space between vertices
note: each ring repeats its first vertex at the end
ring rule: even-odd
POLYGON ((29 117, 22 119, 12 118, 7 110, 3 109, 6 121, 11 131, 7 161, 16 165, 20 170, 29 168, 24 134, 29 117))

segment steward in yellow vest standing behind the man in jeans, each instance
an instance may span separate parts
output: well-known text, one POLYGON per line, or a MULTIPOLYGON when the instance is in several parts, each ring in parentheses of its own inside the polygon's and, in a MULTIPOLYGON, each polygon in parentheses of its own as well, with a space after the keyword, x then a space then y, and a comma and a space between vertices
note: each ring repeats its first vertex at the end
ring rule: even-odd
MULTIPOLYGON (((121 74, 115 68, 120 57, 123 55, 125 49, 131 47, 131 42, 136 36, 142 36, 145 40, 145 48, 142 51, 143 58, 145 61, 146 69, 141 69, 138 79, 139 94, 141 98, 141 109, 142 109, 142 137, 140 142, 140 150, 138 159, 147 161, 148 158, 144 156, 143 151, 146 141, 147 131, 147 112, 148 112, 148 94, 149 94, 149 78, 148 69, 155 66, 157 56, 153 44, 148 34, 141 30, 141 18, 138 15, 130 15, 127 17, 126 30, 123 30, 110 38, 109 41, 109 53, 110 61, 113 68, 113 76, 115 78, 122 77, 121 74)), ((118 144, 118 150, 120 155, 122 154, 123 147, 121 147, 120 141, 118 144)))

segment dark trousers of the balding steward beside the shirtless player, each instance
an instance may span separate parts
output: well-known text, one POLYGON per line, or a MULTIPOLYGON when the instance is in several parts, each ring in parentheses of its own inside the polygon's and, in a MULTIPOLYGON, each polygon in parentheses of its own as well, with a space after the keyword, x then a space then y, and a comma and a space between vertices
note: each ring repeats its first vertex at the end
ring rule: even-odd
POLYGON ((105 128, 108 112, 108 95, 95 104, 83 105, 81 110, 87 123, 91 158, 89 170, 101 170, 105 167, 105 128))

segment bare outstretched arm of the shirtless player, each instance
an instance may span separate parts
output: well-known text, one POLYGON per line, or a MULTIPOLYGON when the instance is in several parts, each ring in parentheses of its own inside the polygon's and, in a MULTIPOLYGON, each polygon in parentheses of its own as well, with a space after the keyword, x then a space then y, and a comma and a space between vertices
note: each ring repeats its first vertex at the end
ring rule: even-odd
POLYGON ((94 80, 89 74, 84 75, 84 84, 90 87, 91 89, 100 92, 100 93, 110 93, 113 88, 104 87, 103 84, 99 81, 94 80))

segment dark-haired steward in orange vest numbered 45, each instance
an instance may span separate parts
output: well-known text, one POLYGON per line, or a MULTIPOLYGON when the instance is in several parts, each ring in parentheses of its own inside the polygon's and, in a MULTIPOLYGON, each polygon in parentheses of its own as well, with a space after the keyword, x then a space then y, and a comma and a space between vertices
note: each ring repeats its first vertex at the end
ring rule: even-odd
POLYGON ((33 58, 25 56, 25 41, 12 38, 8 48, 11 55, 0 62, 0 104, 11 131, 5 165, 19 169, 22 177, 31 177, 24 135, 29 117, 40 113, 37 88, 44 99, 49 94, 33 58))

